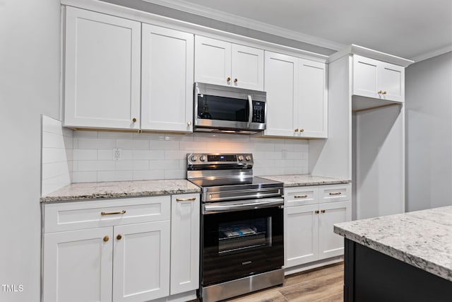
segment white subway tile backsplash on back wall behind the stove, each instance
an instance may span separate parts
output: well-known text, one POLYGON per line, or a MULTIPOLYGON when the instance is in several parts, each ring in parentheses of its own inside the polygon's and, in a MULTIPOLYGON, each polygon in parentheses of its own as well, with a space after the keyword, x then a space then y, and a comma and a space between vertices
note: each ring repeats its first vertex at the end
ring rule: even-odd
POLYGON ((308 172, 308 141, 237 134, 73 132, 72 182, 186 178, 186 153, 253 153, 254 175, 308 172))

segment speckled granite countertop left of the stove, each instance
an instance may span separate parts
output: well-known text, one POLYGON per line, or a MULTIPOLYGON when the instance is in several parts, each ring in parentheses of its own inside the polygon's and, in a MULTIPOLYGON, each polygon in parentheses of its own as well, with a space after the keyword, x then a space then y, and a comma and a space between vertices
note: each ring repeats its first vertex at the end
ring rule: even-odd
POLYGON ((139 197, 201 192, 187 180, 136 180, 73 183, 41 197, 41 202, 70 202, 83 199, 139 197))

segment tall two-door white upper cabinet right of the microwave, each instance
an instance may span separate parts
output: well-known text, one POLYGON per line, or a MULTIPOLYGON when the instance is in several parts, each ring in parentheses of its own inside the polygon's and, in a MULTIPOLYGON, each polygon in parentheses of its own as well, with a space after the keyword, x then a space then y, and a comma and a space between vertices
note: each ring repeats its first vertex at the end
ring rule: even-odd
POLYGON ((266 52, 266 136, 327 137, 326 64, 266 52))

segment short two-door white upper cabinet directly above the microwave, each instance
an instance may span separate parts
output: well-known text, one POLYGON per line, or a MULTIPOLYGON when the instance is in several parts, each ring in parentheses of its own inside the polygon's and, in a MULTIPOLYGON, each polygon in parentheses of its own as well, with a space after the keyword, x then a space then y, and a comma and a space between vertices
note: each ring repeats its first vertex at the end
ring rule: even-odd
POLYGON ((263 50, 195 37, 195 81, 263 90, 263 50))

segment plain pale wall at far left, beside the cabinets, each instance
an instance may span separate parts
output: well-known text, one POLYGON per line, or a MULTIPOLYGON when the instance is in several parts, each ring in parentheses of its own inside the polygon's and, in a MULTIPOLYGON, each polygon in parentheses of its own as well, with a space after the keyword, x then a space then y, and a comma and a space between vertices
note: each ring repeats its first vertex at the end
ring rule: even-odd
POLYGON ((59 117, 58 0, 0 1, 0 301, 40 301, 41 114, 59 117), (7 148, 6 148, 7 147, 7 148))

